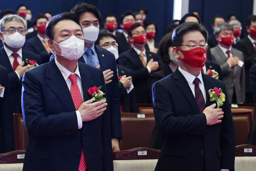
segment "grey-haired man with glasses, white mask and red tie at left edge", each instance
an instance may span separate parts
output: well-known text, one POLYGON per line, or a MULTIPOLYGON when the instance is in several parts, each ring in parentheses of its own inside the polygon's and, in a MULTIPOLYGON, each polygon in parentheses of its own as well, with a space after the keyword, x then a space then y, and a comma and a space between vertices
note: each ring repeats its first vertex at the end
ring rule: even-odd
MULTIPOLYGON (((8 15, 0 20, 0 39, 4 47, 0 49, 0 65, 7 69, 12 91, 13 113, 21 113, 21 88, 23 74, 32 69, 29 60, 41 64, 39 55, 23 49, 25 43, 25 21, 17 15, 8 15)), ((11 107, 11 106, 10 106, 11 107)))

